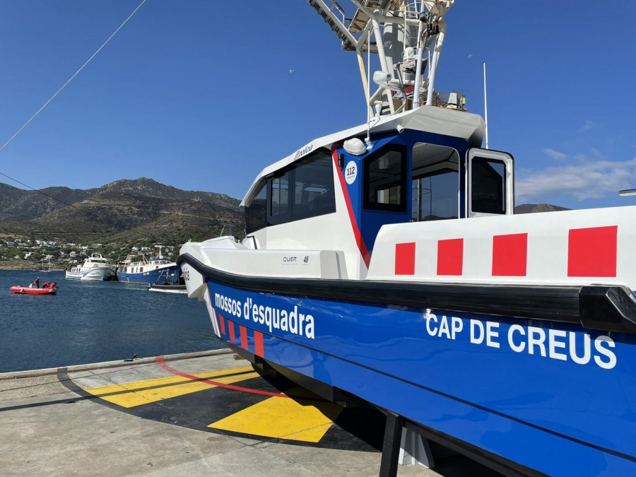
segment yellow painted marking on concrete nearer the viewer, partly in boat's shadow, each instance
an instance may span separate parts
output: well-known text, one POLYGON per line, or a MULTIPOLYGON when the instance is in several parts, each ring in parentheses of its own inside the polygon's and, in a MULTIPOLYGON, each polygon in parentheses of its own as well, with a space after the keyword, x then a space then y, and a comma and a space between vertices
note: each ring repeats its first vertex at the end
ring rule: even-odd
POLYGON ((208 428, 319 442, 342 411, 342 407, 317 401, 317 396, 300 387, 291 389, 287 394, 293 398, 271 397, 218 420, 208 425, 208 428))

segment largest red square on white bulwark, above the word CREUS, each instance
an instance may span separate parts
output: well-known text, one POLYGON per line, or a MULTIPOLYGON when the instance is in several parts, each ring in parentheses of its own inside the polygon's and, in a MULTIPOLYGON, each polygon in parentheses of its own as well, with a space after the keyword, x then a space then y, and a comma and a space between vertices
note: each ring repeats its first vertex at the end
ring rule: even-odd
POLYGON ((618 225, 571 229, 567 276, 616 276, 618 225))

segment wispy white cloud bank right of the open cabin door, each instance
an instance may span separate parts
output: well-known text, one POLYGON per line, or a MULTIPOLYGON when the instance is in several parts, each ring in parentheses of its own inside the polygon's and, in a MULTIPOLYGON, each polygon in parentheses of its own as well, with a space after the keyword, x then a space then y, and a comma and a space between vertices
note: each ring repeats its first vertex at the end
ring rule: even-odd
POLYGON ((560 195, 584 199, 600 199, 621 189, 632 189, 636 182, 636 158, 624 162, 611 160, 583 161, 576 165, 546 167, 531 171, 519 170, 522 176, 515 182, 519 204, 545 201, 560 195))

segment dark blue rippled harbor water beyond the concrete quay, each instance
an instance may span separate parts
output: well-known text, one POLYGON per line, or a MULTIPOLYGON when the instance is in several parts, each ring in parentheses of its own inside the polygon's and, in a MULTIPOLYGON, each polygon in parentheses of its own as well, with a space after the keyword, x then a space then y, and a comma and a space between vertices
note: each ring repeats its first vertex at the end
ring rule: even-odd
POLYGON ((0 372, 223 348, 203 303, 146 285, 66 280, 63 271, 0 270, 0 372), (40 277, 56 295, 18 295, 40 277))

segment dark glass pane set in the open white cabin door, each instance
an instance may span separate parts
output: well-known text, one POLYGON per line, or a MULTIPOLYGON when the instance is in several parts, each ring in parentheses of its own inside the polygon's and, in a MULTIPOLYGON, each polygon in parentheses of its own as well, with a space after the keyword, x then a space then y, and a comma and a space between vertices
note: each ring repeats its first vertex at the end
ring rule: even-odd
POLYGON ((505 163, 502 160, 478 157, 471 162, 472 211, 506 213, 505 163))

